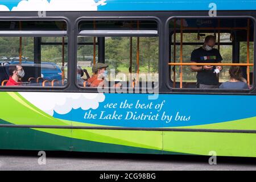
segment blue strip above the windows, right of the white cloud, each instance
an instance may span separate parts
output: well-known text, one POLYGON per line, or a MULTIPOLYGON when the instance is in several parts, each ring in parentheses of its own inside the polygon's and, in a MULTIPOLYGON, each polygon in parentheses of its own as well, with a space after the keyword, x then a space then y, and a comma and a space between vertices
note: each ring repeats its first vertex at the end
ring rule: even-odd
POLYGON ((205 1, 205 0, 107 0, 105 6, 98 7, 98 11, 167 11, 167 10, 206 10, 210 3, 215 3, 217 10, 253 10, 255 1, 205 1))

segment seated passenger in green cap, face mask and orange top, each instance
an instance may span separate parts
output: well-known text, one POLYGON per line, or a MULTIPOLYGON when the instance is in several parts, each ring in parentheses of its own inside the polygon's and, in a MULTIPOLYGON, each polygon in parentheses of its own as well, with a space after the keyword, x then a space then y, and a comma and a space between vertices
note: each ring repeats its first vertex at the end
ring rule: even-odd
POLYGON ((96 63, 92 67, 93 76, 87 80, 87 85, 90 87, 104 86, 104 79, 108 76, 108 64, 96 63))

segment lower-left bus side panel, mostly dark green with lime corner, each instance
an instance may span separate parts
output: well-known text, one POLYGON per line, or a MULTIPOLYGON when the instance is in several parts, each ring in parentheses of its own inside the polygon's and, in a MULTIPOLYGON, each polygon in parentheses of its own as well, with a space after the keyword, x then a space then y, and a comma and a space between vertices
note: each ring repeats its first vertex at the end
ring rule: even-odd
MULTIPOLYGON (((5 150, 58 150, 70 151, 71 138, 51 134, 53 129, 43 131, 25 128, 0 127, 0 148, 5 150)), ((54 129, 55 133, 71 135, 69 129, 54 129)))

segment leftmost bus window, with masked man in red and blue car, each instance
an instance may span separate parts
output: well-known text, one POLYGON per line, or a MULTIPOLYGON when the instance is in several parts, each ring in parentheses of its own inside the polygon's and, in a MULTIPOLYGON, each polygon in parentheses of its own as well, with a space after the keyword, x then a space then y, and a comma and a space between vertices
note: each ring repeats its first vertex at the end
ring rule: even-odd
POLYGON ((61 21, 0 22, 2 86, 67 84, 67 27, 61 21))

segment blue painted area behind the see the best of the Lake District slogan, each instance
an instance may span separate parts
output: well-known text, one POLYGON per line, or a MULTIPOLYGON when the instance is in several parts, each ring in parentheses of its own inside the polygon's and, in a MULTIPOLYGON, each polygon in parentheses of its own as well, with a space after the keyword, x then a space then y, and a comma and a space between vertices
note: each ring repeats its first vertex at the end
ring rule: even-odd
POLYGON ((53 117, 121 127, 179 127, 228 122, 256 116, 256 96, 170 95, 148 100, 148 94, 105 94, 97 109, 72 109, 53 117), (244 106, 237 106, 243 103, 244 106), (239 109, 238 109, 239 108, 239 109), (232 113, 232 114, 230 114, 232 113), (243 114, 241 114, 243 113, 243 114))

